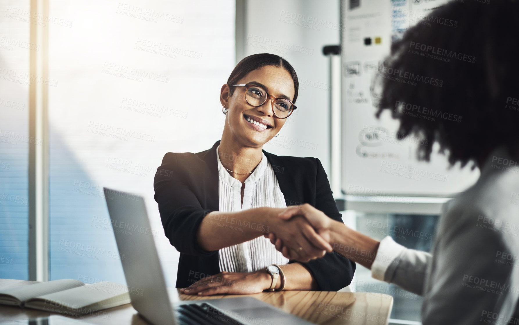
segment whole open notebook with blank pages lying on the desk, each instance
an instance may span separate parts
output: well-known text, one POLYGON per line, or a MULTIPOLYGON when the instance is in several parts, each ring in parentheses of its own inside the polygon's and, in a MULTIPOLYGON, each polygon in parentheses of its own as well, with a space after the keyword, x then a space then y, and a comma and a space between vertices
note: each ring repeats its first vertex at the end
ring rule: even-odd
MULTIPOLYGON (((140 293, 132 290, 132 294, 140 293)), ((0 304, 62 314, 84 315, 128 303, 128 288, 110 281, 85 285, 78 280, 62 279, 0 290, 0 304)))

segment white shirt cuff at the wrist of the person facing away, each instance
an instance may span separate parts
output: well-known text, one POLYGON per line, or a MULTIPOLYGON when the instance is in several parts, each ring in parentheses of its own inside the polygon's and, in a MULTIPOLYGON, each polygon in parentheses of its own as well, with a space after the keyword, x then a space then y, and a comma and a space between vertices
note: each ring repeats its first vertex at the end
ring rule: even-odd
POLYGON ((371 265, 371 276, 381 281, 386 281, 386 278, 390 279, 390 276, 386 277, 386 271, 392 264, 395 266, 398 264, 400 255, 404 250, 405 247, 395 243, 390 236, 382 239, 378 246, 377 256, 373 261, 373 265, 371 265))

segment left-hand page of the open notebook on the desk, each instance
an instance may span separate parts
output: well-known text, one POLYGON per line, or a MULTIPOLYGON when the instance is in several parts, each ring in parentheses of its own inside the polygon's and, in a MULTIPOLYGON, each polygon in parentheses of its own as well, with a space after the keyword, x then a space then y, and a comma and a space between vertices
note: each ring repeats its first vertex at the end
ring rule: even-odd
POLYGON ((0 294, 12 295, 13 297, 23 302, 40 295, 72 289, 79 286, 85 286, 85 284, 78 280, 61 279, 47 282, 38 282, 32 285, 11 287, 0 290, 0 294))

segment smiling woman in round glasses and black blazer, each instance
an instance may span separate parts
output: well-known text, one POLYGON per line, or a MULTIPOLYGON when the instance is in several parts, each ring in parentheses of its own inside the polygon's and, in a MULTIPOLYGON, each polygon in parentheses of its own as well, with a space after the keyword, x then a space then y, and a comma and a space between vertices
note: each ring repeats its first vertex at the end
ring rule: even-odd
POLYGON ((221 140, 206 151, 164 156, 155 200, 165 234, 181 253, 176 287, 189 287, 183 293, 337 291, 350 284, 355 263, 333 253, 305 218, 278 217, 288 205, 308 203, 342 222, 319 159, 263 150, 297 108, 298 87, 285 59, 247 56, 220 91, 221 140), (270 233, 298 262, 276 250, 270 233))

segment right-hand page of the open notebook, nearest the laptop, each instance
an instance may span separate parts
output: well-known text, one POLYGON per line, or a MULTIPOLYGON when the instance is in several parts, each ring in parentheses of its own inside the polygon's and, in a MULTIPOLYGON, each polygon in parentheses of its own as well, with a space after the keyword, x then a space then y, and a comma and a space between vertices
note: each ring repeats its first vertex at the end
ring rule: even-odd
POLYGON ((102 281, 93 285, 42 295, 35 300, 28 301, 25 306, 32 308, 33 305, 36 307, 46 303, 49 307, 73 311, 88 306, 95 306, 95 309, 105 309, 129 302, 130 295, 127 286, 116 282, 102 281))

